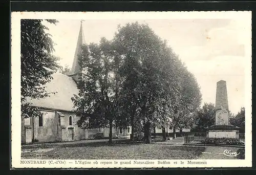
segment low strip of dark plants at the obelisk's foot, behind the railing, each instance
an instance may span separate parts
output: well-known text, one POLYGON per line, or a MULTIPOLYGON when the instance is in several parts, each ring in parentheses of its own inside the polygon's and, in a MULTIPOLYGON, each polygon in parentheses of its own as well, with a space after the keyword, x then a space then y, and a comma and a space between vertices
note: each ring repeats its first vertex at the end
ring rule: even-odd
POLYGON ((239 139, 232 138, 206 138, 201 141, 201 144, 212 144, 212 145, 244 145, 244 142, 239 139))

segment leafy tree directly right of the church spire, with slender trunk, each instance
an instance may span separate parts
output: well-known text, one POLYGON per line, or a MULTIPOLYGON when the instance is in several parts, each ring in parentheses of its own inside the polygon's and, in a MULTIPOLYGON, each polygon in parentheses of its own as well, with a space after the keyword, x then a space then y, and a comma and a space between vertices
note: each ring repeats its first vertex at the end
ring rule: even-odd
POLYGON ((81 68, 86 72, 78 81, 79 94, 72 98, 78 126, 82 128, 109 127, 109 142, 112 143, 112 128, 118 111, 118 67, 112 44, 105 38, 100 43, 82 47, 78 55, 81 68))

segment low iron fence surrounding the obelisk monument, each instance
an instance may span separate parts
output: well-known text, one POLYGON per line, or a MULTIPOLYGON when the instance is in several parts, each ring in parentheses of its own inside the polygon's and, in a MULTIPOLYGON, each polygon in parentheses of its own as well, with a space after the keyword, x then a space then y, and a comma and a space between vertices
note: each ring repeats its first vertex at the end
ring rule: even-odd
POLYGON ((184 137, 186 145, 240 145, 243 146, 245 135, 240 133, 237 136, 214 136, 209 137, 206 133, 188 133, 184 137))

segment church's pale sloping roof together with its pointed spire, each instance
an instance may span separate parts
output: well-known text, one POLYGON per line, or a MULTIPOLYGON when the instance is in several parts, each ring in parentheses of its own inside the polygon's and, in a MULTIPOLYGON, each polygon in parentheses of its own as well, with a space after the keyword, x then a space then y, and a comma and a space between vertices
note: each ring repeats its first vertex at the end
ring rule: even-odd
MULTIPOLYGON (((78 95, 78 89, 75 80, 71 75, 76 75, 81 73, 80 66, 78 64, 78 54, 81 53, 81 46, 85 44, 82 21, 80 26, 80 31, 77 39, 77 46, 74 55, 74 61, 70 73, 70 77, 63 75, 61 73, 53 73, 53 79, 45 85, 46 91, 50 94, 49 97, 42 99, 28 99, 27 102, 32 103, 32 106, 51 108, 54 110, 72 111, 74 110, 74 104, 71 100, 74 95, 78 95)), ((48 68, 45 68, 48 69, 48 68)), ((48 69, 49 71, 52 71, 48 69)))

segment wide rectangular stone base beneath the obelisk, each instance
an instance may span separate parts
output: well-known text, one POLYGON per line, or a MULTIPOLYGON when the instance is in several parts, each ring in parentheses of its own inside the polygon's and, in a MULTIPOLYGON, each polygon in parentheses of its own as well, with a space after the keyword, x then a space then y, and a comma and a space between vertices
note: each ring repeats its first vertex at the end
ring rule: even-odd
POLYGON ((207 138, 237 138, 239 139, 239 127, 233 125, 212 125, 206 128, 207 138))

